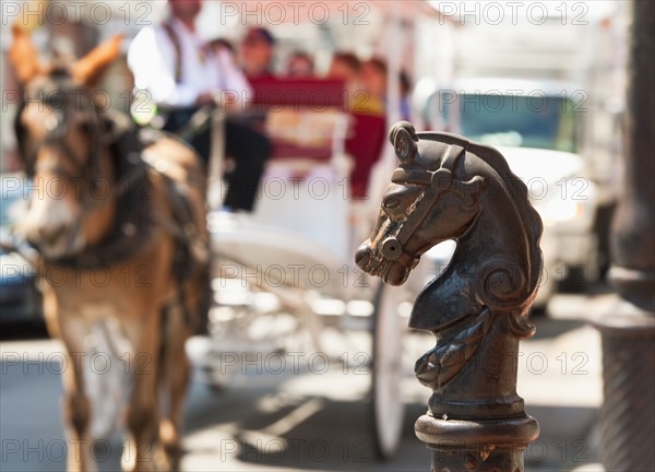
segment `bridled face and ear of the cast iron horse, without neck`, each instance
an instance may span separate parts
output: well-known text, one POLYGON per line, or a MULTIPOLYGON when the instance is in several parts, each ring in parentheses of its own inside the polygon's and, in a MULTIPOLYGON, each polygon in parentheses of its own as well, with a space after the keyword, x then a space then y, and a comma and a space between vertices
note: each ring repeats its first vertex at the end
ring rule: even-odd
POLYGON ((453 169, 464 149, 419 140, 408 122, 395 125, 390 140, 400 166, 356 260, 366 272, 400 285, 425 251, 467 231, 479 211, 485 180, 479 176, 467 180, 455 177, 453 169))

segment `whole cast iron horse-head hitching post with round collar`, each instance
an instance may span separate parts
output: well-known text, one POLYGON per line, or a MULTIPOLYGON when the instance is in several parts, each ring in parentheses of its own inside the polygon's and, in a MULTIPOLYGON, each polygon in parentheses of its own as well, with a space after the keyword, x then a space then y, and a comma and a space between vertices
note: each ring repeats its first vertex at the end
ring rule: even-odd
POLYGON ((523 471, 538 425, 516 394, 516 359, 535 332, 526 316, 541 273, 539 215, 498 151, 408 122, 390 139, 400 166, 357 264, 400 285, 432 246, 457 243, 409 320, 437 340, 416 363, 433 392, 416 435, 433 471, 523 471))

